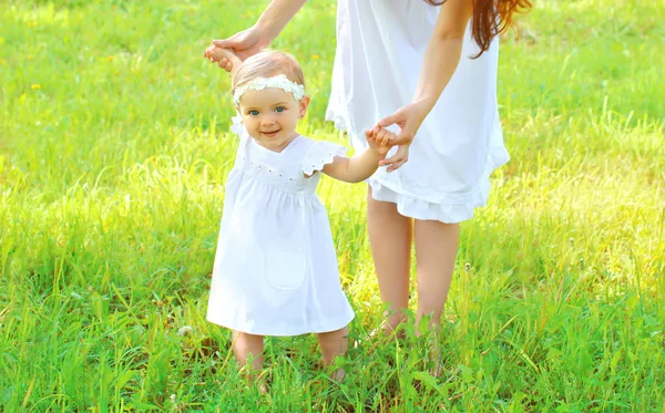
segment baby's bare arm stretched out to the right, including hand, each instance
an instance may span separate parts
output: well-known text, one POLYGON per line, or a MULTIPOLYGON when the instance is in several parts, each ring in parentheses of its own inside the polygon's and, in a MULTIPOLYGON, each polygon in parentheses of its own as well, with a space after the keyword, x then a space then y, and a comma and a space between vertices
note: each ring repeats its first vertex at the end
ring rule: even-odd
POLYGON ((395 134, 388 130, 375 127, 365 131, 369 147, 352 157, 337 156, 330 164, 324 166, 324 174, 335 179, 358 183, 369 178, 379 167, 379 161, 386 157, 390 146, 388 142, 395 134))

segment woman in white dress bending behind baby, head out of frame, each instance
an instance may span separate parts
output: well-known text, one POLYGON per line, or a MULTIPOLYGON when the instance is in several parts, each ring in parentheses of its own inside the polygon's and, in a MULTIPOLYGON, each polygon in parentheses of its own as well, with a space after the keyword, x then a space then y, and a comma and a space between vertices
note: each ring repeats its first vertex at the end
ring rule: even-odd
MULTIPOLYGON (((273 0, 253 27, 215 40, 206 55, 218 47, 246 59, 305 2, 273 0)), ((348 132, 357 151, 366 128, 400 128, 399 147, 369 179, 367 198, 387 331, 405 319, 413 240, 417 322, 431 317, 434 329, 440 324, 459 223, 487 203, 490 174, 509 159, 497 109, 498 34, 530 7, 529 0, 338 1, 326 118, 348 132)), ((231 69, 226 60, 217 63, 231 69)))

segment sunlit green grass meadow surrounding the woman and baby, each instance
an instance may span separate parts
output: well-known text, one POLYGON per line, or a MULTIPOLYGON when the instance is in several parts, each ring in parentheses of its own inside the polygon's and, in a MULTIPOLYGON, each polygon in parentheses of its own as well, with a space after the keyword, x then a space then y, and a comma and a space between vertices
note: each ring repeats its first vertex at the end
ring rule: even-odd
MULTIPOLYGON (((536 0, 504 38, 512 161, 462 226, 440 380, 412 329, 352 348, 341 384, 314 337, 270 339, 267 395, 205 321, 236 143, 202 59, 264 6, 0 7, 0 412, 663 411, 665 4, 536 0)), ((344 142, 323 121, 334 38, 320 0, 275 45, 304 63, 303 132, 344 142)), ((319 192, 357 339, 381 313, 364 192, 319 192)))

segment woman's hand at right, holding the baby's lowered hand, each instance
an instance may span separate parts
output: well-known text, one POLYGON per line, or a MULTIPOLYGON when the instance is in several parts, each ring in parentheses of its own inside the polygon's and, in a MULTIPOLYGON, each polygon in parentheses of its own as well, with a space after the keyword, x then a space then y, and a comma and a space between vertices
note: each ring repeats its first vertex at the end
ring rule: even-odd
POLYGON ((409 161, 409 145, 431 107, 432 105, 426 101, 416 101, 398 109, 397 112, 377 123, 377 126, 381 128, 390 125, 398 125, 400 128, 399 134, 389 143, 391 146, 399 145, 397 153, 388 159, 381 161, 380 166, 389 165, 388 172, 392 172, 409 161))

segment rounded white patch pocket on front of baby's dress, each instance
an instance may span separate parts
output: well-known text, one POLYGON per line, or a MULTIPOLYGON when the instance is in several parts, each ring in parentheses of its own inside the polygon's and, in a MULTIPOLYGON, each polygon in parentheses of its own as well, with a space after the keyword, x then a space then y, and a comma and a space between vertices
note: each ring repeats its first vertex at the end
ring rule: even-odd
POLYGON ((299 249, 268 246, 265 275, 268 283, 278 290, 295 290, 305 281, 307 260, 299 249))

